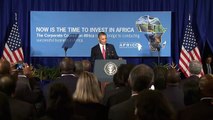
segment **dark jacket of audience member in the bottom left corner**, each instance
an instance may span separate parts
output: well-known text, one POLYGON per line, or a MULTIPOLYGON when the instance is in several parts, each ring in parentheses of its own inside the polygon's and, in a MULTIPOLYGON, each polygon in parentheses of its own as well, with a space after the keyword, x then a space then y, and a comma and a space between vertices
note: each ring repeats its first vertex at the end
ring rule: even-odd
POLYGON ((12 120, 34 120, 35 108, 32 104, 10 98, 12 120))

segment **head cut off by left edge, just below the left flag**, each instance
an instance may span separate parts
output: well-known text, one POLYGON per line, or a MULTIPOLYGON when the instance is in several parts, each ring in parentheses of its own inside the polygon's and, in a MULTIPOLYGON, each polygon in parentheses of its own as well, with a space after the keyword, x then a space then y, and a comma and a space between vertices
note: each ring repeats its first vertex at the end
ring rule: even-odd
POLYGON ((10 74, 10 63, 7 60, 0 59, 0 74, 10 74))

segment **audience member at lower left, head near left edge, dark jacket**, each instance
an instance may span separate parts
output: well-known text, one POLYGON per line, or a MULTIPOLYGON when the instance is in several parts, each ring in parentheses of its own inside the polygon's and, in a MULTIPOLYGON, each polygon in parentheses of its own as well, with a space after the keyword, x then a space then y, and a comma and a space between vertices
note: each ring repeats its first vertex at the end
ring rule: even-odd
POLYGON ((0 78, 0 91, 9 97, 10 112, 12 120, 33 120, 36 115, 35 108, 32 104, 14 99, 16 80, 9 75, 0 78))

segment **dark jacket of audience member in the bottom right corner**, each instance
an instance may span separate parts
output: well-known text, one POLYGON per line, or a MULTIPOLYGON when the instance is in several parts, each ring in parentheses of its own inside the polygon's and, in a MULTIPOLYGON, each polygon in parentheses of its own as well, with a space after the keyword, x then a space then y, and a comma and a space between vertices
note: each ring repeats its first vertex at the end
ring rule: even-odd
POLYGON ((213 120, 213 105, 210 100, 202 100, 186 107, 179 113, 179 120, 213 120))

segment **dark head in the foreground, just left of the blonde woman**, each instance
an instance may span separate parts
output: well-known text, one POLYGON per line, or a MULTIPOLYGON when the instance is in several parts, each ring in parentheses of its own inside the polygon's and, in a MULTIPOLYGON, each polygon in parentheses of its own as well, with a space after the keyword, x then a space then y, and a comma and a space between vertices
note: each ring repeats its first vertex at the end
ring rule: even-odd
POLYGON ((47 115, 54 120, 69 120, 72 117, 72 99, 62 83, 54 83, 49 88, 47 115))

